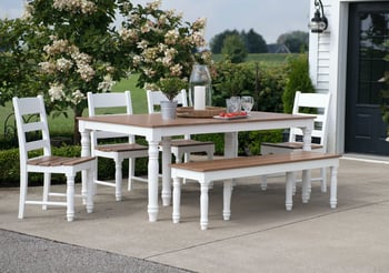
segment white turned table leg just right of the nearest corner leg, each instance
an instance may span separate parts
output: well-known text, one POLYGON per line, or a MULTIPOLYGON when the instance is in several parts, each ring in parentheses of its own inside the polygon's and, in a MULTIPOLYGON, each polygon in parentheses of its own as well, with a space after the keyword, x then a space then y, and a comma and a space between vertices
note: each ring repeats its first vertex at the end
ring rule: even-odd
POLYGON ((170 138, 162 138, 162 204, 170 205, 171 200, 171 142, 170 138))

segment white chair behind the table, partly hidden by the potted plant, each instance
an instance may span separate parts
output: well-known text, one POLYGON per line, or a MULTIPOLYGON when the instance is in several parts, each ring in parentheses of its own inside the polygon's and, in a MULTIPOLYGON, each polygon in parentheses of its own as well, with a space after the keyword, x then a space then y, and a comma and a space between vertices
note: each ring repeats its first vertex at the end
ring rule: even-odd
MULTIPOLYGON (((168 98, 161 91, 147 90, 147 101, 149 113, 158 112, 157 107, 160 107, 161 101, 167 101, 168 98)), ((174 98, 179 105, 188 107, 187 91, 183 89, 174 98)), ((159 146, 162 151, 162 145, 159 146)), ((181 139, 171 140, 171 153, 176 158, 176 163, 190 161, 190 153, 205 152, 210 160, 213 158, 215 143, 211 141, 197 141, 192 140, 189 134, 183 135, 181 139)))

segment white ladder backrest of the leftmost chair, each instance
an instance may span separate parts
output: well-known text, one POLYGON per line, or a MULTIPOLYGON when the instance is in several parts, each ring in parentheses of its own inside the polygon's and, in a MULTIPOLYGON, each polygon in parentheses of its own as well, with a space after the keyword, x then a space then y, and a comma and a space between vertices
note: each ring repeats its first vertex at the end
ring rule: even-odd
POLYGON ((14 97, 12 103, 18 129, 20 166, 24 168, 30 151, 43 150, 43 155, 51 155, 48 118, 42 95, 14 97))

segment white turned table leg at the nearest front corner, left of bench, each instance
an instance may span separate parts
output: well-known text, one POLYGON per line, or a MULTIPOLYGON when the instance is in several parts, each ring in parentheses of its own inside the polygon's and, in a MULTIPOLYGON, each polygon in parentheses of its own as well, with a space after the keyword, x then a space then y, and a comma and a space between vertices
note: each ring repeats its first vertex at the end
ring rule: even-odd
POLYGON ((149 164, 148 164, 148 176, 149 176, 149 204, 148 204, 148 213, 149 221, 156 222, 158 219, 158 144, 157 140, 148 140, 149 142, 149 164))

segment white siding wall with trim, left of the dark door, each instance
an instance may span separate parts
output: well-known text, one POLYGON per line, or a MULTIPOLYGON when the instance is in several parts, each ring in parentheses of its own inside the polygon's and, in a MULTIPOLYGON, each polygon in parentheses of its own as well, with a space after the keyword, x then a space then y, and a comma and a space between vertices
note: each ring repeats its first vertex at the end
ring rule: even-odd
MULTIPOLYGON (((377 2, 388 0, 322 0, 328 29, 310 33, 310 75, 318 92, 331 93, 328 150, 345 151, 347 37, 350 2, 377 2)), ((315 1, 310 1, 310 18, 313 17, 315 1)))

